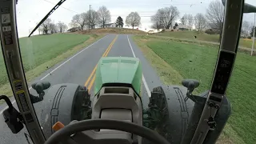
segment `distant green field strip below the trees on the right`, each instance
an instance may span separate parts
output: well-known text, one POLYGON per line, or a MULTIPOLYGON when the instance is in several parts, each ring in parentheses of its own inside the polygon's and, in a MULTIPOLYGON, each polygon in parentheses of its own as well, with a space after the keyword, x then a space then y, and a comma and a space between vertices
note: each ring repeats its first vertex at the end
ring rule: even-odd
MULTIPOLYGON (((182 38, 182 39, 192 39, 196 41, 207 41, 207 42, 219 42, 218 34, 206 34, 206 33, 198 33, 197 31, 166 31, 163 33, 157 33, 154 35, 158 36, 166 36, 172 38, 182 38), (197 38, 194 38, 197 36, 197 38)), ((250 39, 240 39, 239 46, 251 48, 252 40, 250 39)), ((256 49, 256 45, 254 45, 256 49)))

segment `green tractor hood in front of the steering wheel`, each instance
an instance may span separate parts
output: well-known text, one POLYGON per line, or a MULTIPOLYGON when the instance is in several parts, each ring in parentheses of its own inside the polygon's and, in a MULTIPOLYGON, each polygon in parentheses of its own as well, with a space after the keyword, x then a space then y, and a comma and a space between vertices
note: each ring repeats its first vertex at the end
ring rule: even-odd
POLYGON ((131 84, 140 94, 142 84, 142 65, 138 58, 103 57, 99 60, 94 94, 98 94, 104 84, 131 84))

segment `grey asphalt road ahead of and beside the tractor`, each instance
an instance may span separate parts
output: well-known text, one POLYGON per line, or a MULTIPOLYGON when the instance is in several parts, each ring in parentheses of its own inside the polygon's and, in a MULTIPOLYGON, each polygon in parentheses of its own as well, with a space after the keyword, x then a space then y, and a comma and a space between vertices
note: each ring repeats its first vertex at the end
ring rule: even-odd
MULTIPOLYGON (((94 70, 94 67, 98 63, 98 60, 102 57, 103 54, 107 54, 107 57, 137 57, 142 62, 142 71, 143 71, 143 93, 142 93, 142 102, 143 106, 146 106, 149 102, 150 90, 156 86, 161 86, 162 83, 158 78, 158 75, 150 64, 144 58, 141 50, 133 42, 131 35, 125 34, 109 34, 104 38, 100 39, 98 42, 94 42, 89 47, 86 47, 82 51, 78 52, 70 58, 66 58, 63 62, 59 62, 54 67, 46 70, 38 78, 34 78, 34 82, 38 80, 48 81, 51 85, 58 83, 77 83, 84 86, 90 74, 94 70), (116 40, 114 41, 114 39, 116 40), (114 42, 114 43, 113 43, 114 42), (110 51, 105 53, 107 48, 110 48, 110 51)), ((90 90, 90 93, 93 94, 93 86, 90 90)), ((34 94, 34 90, 30 90, 31 94, 34 94)), ((12 98, 13 99, 13 98, 12 98)), ((40 119, 42 106, 46 99, 42 102, 34 104, 34 109, 37 112, 38 119, 40 119)), ((16 103, 14 106, 17 107, 16 103)), ((27 144, 24 133, 26 129, 24 128, 18 134, 12 134, 9 128, 6 126, 6 123, 2 118, 2 110, 6 105, 0 106, 0 143, 1 144, 16 144, 24 143, 27 144)))

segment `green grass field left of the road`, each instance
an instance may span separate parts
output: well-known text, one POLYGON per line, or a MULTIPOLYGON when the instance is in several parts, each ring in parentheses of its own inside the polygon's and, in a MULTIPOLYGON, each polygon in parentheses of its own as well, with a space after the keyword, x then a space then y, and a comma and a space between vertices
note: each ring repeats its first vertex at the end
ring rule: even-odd
MULTIPOLYGON (((90 38, 88 35, 83 34, 50 34, 19 38, 24 70, 33 70, 36 66, 50 61, 88 38, 90 38)), ((0 86, 6 82, 6 67, 0 54, 0 86)))

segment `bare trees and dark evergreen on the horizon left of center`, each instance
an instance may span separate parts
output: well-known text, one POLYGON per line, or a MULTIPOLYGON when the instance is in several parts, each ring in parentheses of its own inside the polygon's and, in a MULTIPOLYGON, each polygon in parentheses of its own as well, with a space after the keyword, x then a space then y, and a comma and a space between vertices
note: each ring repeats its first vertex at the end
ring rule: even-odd
MULTIPOLYGON (((106 27, 106 24, 111 22, 110 10, 106 6, 101 6, 96 10, 87 10, 81 14, 75 14, 69 23, 70 28, 78 28, 79 30, 94 29, 95 26, 102 28, 106 27)), ((138 12, 131 12, 126 17, 126 26, 139 26, 141 25, 141 17, 138 12)), ((121 16, 118 16, 115 22, 116 27, 123 27, 124 22, 121 16)), ((45 22, 39 26, 39 34, 54 34, 66 32, 68 26, 64 22, 54 23, 50 18, 47 18, 45 22)))

